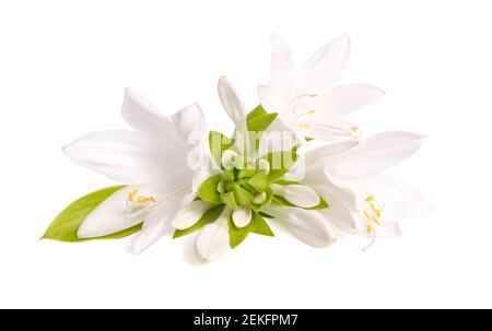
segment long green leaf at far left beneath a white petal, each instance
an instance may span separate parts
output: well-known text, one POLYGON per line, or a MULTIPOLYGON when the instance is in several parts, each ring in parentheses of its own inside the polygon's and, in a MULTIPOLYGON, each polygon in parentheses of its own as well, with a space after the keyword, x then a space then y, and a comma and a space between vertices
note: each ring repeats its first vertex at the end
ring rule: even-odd
POLYGON ((126 186, 114 186, 89 193, 67 206, 49 225, 40 239, 52 239, 60 241, 86 241, 92 239, 118 239, 129 236, 142 227, 142 224, 134 225, 127 229, 96 238, 78 238, 77 233, 82 222, 87 215, 104 200, 126 186))

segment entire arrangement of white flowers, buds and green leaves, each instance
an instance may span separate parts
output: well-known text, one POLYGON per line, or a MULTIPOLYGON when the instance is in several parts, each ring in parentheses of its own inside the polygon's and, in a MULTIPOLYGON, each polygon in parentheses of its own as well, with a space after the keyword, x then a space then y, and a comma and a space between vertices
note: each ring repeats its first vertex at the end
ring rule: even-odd
POLYGON ((126 90, 122 117, 134 131, 86 134, 63 149, 77 163, 122 181, 62 211, 44 238, 79 241, 137 233, 141 252, 173 233, 197 233, 203 261, 221 258, 249 234, 286 227, 314 247, 338 230, 376 238, 400 234, 398 220, 426 216, 418 192, 382 172, 412 155, 425 138, 387 131, 362 138, 344 116, 380 98, 367 84, 336 85, 350 43, 342 36, 294 70, 291 51, 272 36, 271 78, 247 111, 234 85, 218 91, 235 130, 208 131, 197 104, 167 117, 126 90), (318 141, 313 147, 312 141, 318 141))

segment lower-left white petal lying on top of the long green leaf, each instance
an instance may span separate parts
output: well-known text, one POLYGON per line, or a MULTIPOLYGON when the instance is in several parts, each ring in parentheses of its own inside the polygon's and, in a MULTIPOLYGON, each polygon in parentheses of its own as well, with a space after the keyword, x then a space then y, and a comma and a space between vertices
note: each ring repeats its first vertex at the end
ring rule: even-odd
POLYGON ((127 199, 132 189, 122 188, 97 205, 82 222, 77 236, 79 238, 106 236, 143 222, 143 217, 134 218, 127 215, 127 199))

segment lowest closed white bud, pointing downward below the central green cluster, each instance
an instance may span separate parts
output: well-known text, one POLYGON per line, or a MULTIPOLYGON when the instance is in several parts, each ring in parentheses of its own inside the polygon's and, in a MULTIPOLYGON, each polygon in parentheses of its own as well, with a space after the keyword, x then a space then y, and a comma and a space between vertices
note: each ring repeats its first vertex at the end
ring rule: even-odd
POLYGON ((195 238, 195 252, 203 263, 219 260, 230 249, 226 214, 203 226, 195 238))

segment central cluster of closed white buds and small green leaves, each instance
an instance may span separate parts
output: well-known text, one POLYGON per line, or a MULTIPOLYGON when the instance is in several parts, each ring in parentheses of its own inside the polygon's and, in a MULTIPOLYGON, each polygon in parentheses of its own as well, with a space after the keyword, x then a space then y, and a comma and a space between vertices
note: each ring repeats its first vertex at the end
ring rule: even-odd
POLYGON ((276 140, 272 135, 262 135, 276 115, 267 114, 261 107, 248 115, 225 78, 219 81, 219 95, 235 122, 236 132, 233 138, 210 133, 210 150, 220 168, 219 174, 207 178, 198 189, 198 199, 175 217, 175 237, 201 228, 195 248, 200 260, 207 262, 219 259, 230 247, 238 246, 250 233, 272 236, 265 218, 278 220, 308 245, 326 247, 332 244, 332 228, 319 212, 328 206, 327 202, 312 188, 283 179, 297 157, 292 140, 286 142, 290 150, 281 149, 283 144, 279 141, 272 143, 269 151, 261 147, 265 144, 261 138, 276 140), (253 127, 255 130, 251 131, 253 127), (239 139, 247 131, 247 138, 239 139), (255 135, 251 133, 256 133, 259 141, 251 140, 255 135), (254 152, 239 147, 238 139, 247 141, 244 146, 254 152), (253 146, 257 143, 256 151, 253 146))

